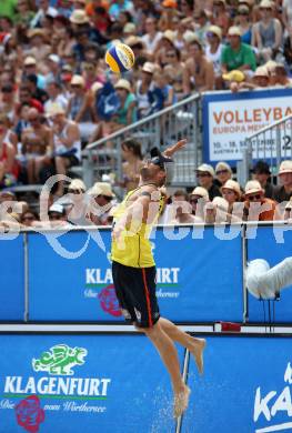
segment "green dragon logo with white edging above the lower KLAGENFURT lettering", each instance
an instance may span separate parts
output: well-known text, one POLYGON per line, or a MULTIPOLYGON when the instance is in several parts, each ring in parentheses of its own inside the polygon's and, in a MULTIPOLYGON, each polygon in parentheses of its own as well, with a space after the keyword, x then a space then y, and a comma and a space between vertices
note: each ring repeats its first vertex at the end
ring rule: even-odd
POLYGON ((67 344, 57 344, 43 352, 39 360, 32 360, 34 371, 47 371, 53 375, 72 375, 74 365, 84 364, 88 351, 83 348, 69 348, 67 344))

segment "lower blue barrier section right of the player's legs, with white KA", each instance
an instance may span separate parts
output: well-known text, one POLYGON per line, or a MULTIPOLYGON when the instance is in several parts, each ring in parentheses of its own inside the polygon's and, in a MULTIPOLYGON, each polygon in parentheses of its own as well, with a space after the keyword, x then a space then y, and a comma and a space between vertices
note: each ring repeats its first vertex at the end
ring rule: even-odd
POLYGON ((208 338, 205 373, 192 389, 182 433, 291 431, 291 338, 208 338))

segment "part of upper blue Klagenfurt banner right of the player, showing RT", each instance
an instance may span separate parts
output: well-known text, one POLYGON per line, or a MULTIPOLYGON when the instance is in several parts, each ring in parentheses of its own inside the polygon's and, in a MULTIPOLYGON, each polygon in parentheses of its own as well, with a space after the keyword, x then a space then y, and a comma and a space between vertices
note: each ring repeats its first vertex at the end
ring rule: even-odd
POLYGON ((222 240, 222 232, 210 226, 202 234, 178 228, 174 240, 173 229, 157 231, 152 242, 161 314, 175 322, 241 322, 241 236, 222 240))

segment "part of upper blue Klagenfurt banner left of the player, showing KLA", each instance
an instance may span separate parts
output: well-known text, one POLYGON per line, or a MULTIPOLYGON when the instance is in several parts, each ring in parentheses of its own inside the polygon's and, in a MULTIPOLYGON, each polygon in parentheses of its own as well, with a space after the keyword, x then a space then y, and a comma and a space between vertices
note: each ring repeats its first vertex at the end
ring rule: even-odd
POLYGON ((110 230, 56 234, 29 234, 29 319, 123 321, 112 284, 110 230))

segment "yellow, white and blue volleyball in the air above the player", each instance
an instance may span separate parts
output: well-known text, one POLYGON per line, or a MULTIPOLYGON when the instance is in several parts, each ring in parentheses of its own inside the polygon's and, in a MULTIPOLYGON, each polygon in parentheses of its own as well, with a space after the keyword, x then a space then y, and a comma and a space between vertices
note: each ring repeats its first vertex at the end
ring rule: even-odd
POLYGON ((112 72, 121 73, 129 71, 134 64, 134 53, 124 43, 117 43, 107 51, 105 63, 112 72))

